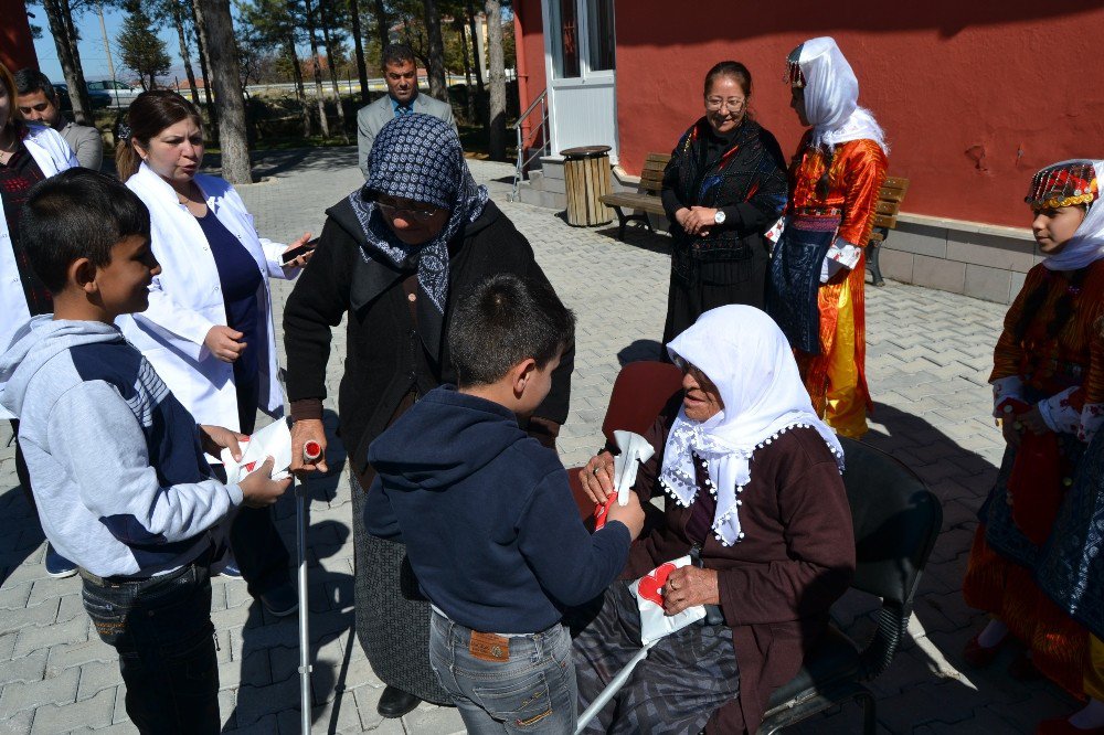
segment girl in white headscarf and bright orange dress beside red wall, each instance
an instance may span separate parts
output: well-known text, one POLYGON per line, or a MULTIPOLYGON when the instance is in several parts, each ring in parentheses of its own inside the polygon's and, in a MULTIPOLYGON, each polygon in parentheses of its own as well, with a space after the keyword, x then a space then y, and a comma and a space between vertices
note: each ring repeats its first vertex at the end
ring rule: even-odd
POLYGON ((811 126, 789 168, 789 204, 774 249, 767 311, 789 338, 813 407, 843 436, 867 433, 864 257, 889 147, 830 38, 787 60, 790 106, 811 126))

